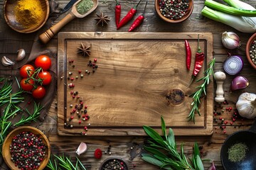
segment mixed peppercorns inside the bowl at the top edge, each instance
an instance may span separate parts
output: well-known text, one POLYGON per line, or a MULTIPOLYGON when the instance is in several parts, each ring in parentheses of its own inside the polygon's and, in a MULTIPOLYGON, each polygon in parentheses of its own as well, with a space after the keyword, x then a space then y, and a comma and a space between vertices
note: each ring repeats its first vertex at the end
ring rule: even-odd
POLYGON ((161 15, 171 20, 178 20, 188 12, 189 0, 159 0, 161 15))

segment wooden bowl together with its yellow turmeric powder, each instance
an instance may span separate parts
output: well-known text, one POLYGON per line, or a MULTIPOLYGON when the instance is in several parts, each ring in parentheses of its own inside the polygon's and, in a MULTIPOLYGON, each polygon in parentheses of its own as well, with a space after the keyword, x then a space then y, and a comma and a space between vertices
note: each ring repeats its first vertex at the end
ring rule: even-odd
POLYGON ((50 8, 48 0, 5 0, 6 23, 19 33, 33 33, 47 21, 50 8))

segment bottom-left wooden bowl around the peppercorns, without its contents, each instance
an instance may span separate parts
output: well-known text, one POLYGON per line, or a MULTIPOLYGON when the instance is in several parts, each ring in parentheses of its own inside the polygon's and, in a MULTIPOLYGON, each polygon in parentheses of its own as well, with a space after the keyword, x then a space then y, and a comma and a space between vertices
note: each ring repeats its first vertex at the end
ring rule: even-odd
POLYGON ((11 153, 9 146, 11 145, 11 141, 15 135, 18 135, 21 132, 32 132, 34 135, 37 135, 43 140, 43 143, 46 145, 46 155, 42 162, 40 162, 40 166, 38 167, 38 170, 43 170, 46 165, 48 164, 48 161, 50 159, 50 143, 48 142, 48 139, 46 135, 41 132, 41 130, 38 130, 37 128, 33 128, 31 126, 21 126, 19 128, 16 128, 12 130, 9 135, 4 140, 4 144, 2 147, 2 154, 4 157, 4 162, 9 166, 12 170, 19 170, 17 166, 15 166, 14 162, 11 161, 11 153))

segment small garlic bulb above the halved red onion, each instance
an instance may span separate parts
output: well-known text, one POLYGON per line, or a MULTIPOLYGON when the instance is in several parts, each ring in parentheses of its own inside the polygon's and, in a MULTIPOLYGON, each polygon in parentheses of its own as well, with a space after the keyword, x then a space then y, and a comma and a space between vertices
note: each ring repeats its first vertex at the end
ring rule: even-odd
POLYGON ((240 47, 241 42, 240 42, 240 38, 238 37, 238 35, 232 31, 227 32, 225 31, 222 34, 222 38, 221 38, 224 47, 228 48, 229 50, 233 50, 237 47, 240 47))

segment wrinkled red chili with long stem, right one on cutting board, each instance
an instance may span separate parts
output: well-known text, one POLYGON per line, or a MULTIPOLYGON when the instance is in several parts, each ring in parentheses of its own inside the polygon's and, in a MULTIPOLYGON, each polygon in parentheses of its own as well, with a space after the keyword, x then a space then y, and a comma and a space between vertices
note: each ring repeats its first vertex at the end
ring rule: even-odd
MULTIPOLYGON (((194 69, 193 69, 193 74, 192 74, 192 78, 191 78, 191 83, 193 82, 193 80, 196 78, 198 72, 200 72, 201 68, 203 67, 203 60, 204 60, 204 53, 201 50, 201 47, 199 45, 199 34, 198 34, 198 50, 196 52, 196 61, 195 61, 195 65, 194 65, 194 69)), ((190 83, 190 84, 191 84, 190 83)), ((189 85, 190 85, 189 84, 189 85)))

